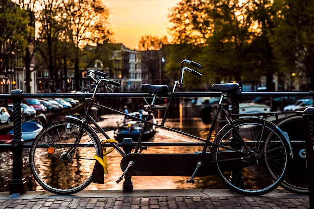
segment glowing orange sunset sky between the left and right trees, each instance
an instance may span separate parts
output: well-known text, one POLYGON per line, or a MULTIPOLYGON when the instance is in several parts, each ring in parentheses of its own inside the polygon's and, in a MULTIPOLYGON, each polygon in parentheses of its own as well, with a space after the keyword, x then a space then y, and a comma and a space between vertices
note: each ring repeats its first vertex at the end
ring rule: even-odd
POLYGON ((142 36, 167 34, 167 15, 180 0, 102 0, 110 11, 116 43, 136 49, 142 36))

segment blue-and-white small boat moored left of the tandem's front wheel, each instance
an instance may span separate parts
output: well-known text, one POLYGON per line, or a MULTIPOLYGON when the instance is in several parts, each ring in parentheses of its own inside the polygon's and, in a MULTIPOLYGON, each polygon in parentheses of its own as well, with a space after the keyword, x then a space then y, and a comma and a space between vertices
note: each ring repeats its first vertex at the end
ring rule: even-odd
MULTIPOLYGON (((33 140, 42 129, 43 126, 35 121, 22 122, 22 139, 24 141, 33 140)), ((13 134, 13 129, 8 133, 13 134)))

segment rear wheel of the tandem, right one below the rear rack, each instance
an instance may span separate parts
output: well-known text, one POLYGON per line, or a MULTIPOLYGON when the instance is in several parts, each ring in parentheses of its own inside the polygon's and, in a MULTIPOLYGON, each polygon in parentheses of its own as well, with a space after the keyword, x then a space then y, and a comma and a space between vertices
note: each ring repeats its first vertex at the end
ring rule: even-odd
POLYGON ((239 194, 266 194, 280 185, 287 172, 289 142, 273 123, 266 121, 264 126, 264 122, 261 118, 240 118, 225 125, 215 137, 212 160, 217 175, 239 194), (240 137, 248 149, 239 143, 240 137))

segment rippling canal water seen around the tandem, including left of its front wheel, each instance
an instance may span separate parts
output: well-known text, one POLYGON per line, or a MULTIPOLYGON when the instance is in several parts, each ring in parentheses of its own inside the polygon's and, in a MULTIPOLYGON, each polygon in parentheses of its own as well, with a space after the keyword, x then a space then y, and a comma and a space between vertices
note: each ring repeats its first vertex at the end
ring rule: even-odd
MULTIPOLYGON (((108 135, 113 137, 117 122, 123 119, 121 115, 106 114, 100 116, 99 124, 108 130, 108 135)), ((160 123, 161 119, 157 119, 160 123)), ((200 118, 178 118, 167 119, 165 126, 175 128, 186 133, 206 139, 210 124, 204 124, 200 118)), ((151 142, 198 142, 195 139, 157 128, 155 135, 149 140, 151 142)), ((143 153, 193 153, 200 151, 202 147, 148 147, 143 153)), ((23 152, 23 175, 27 180, 28 190, 42 190, 34 181, 29 168, 29 149, 23 152)), ((113 151, 108 155, 109 174, 105 175, 105 184, 90 184, 86 190, 122 190, 123 181, 120 184, 116 180, 122 175, 120 161, 122 157, 113 151)), ((0 152, 0 191, 8 191, 12 176, 12 152, 3 150, 0 152)), ((177 176, 132 176, 134 189, 191 189, 191 188, 225 188, 216 175, 208 177, 195 177, 194 184, 187 184, 190 177, 177 176)))

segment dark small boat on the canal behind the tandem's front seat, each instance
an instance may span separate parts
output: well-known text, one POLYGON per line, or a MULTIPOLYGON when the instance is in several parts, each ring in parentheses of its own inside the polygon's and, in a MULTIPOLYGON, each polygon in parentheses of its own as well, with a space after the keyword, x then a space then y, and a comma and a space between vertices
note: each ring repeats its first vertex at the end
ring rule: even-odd
MULTIPOLYGON (((137 118, 146 119, 146 111, 139 110, 138 112, 132 112, 132 115, 137 118)), ((156 123, 156 119, 153 114, 150 115, 149 121, 156 123)), ((114 137, 117 141, 122 141, 124 138, 132 138, 133 141, 138 141, 141 131, 143 130, 144 122, 125 116, 122 122, 118 122, 118 128, 114 131, 114 137)), ((156 132, 156 126, 147 124, 143 140, 150 139, 156 132)))

